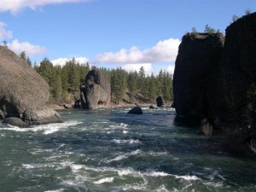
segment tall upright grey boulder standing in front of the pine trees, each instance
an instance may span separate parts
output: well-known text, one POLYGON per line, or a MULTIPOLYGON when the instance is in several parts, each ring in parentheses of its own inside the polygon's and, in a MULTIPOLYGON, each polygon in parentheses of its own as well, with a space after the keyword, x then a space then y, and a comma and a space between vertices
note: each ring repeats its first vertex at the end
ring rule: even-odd
POLYGON ((96 109, 98 104, 108 105, 110 102, 110 80, 100 70, 91 70, 85 77, 85 86, 80 90, 82 108, 96 109))

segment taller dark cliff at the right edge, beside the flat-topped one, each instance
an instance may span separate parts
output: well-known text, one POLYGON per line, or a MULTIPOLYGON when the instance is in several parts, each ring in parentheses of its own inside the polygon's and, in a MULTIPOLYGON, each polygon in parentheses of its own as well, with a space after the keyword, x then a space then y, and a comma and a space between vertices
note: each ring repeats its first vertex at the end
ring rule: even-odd
POLYGON ((256 126, 256 13, 226 28, 223 54, 226 124, 256 126))

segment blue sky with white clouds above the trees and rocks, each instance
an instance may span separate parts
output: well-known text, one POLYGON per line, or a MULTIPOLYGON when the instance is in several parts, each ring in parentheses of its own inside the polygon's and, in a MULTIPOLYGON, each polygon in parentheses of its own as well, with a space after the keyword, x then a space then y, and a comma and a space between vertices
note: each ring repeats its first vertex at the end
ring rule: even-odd
POLYGON ((0 43, 32 62, 73 57, 96 67, 173 73, 178 45, 193 27, 221 32, 256 0, 0 0, 0 43))

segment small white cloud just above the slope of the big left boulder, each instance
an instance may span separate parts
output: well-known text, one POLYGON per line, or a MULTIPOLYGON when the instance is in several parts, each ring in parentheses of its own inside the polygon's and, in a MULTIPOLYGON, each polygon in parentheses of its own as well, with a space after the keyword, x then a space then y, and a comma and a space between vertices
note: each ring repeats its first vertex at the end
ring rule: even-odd
POLYGON ((25 51, 28 56, 42 54, 47 51, 46 48, 41 47, 40 45, 30 44, 28 42, 19 42, 18 39, 13 40, 12 43, 8 43, 7 46, 18 55, 22 51, 25 51))

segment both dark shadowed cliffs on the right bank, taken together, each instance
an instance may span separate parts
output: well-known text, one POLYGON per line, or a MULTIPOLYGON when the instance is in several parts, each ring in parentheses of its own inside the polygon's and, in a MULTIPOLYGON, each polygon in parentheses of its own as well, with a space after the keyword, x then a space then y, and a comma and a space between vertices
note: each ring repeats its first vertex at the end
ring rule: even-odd
POLYGON ((256 128, 256 13, 219 34, 189 33, 179 46, 173 76, 177 116, 211 124, 256 128))

